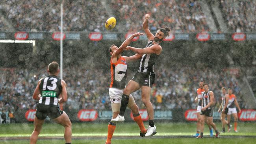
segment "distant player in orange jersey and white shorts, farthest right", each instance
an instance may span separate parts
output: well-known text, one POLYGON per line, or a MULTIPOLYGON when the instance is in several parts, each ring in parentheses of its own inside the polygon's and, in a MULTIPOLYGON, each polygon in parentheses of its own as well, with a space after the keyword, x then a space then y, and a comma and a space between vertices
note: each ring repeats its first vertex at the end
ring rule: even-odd
MULTIPOLYGON (((224 108, 228 108, 228 116, 227 116, 227 120, 228 120, 228 132, 230 132, 230 119, 231 119, 231 114, 234 117, 234 131, 237 132, 237 120, 238 120, 238 116, 237 116, 237 111, 236 111, 236 107, 238 108, 238 112, 241 113, 241 109, 239 107, 239 104, 236 100, 236 96, 234 94, 232 94, 232 89, 228 89, 228 96, 226 98, 226 105, 224 106, 224 108)), ((223 109, 224 109, 223 108, 223 109)), ((224 111, 225 111, 224 109, 224 111)))

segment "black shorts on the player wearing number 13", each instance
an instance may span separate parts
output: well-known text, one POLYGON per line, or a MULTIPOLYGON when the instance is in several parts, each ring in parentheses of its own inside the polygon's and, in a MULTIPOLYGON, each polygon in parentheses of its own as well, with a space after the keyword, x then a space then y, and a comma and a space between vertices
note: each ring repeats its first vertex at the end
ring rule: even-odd
POLYGON ((49 116, 51 119, 54 119, 61 116, 61 114, 63 114, 63 111, 59 109, 58 105, 44 105, 44 104, 38 103, 35 116, 39 120, 44 120, 47 116, 49 116))

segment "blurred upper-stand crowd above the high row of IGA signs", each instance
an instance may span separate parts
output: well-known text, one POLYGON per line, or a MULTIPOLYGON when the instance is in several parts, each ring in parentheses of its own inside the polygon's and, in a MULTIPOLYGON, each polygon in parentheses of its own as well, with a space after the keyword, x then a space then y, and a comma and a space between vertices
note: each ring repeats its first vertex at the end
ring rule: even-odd
MULTIPOLYGON (((214 0, 231 32, 255 31, 254 0, 214 0)), ((17 31, 60 31, 61 0, 2 0, 0 31, 7 24, 17 31), (7 23, 1 22, 6 19, 7 23)), ((119 31, 141 31, 143 16, 149 13, 150 30, 169 26, 173 32, 210 30, 199 0, 66 0, 63 4, 64 31, 104 31, 108 17, 116 17, 119 31)), ((117 30, 116 30, 117 31, 117 30)))

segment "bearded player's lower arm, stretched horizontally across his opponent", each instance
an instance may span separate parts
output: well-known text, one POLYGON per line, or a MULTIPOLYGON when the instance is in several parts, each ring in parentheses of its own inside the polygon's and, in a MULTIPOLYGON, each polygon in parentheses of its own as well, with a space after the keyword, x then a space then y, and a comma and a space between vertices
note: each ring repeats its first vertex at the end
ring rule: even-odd
POLYGON ((159 44, 154 44, 147 48, 134 48, 131 46, 126 47, 127 50, 132 50, 133 52, 137 54, 161 54, 162 47, 159 44))

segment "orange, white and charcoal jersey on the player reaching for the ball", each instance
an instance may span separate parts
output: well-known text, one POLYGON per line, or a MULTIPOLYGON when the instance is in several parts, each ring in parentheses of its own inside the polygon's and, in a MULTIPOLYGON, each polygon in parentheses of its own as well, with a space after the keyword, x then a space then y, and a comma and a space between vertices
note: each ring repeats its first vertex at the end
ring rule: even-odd
POLYGON ((127 76, 127 63, 123 57, 119 57, 116 63, 111 64, 111 83, 110 87, 114 87, 117 89, 124 89, 125 88, 125 81, 127 76))

